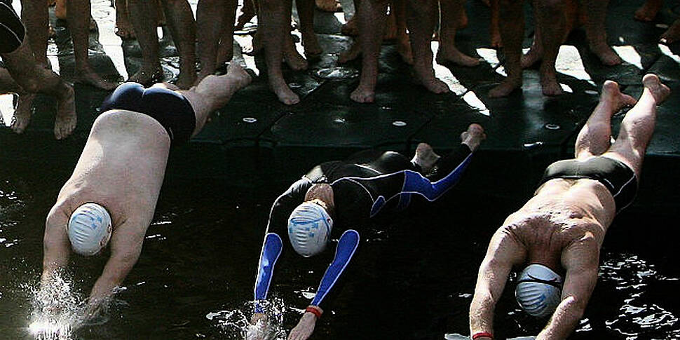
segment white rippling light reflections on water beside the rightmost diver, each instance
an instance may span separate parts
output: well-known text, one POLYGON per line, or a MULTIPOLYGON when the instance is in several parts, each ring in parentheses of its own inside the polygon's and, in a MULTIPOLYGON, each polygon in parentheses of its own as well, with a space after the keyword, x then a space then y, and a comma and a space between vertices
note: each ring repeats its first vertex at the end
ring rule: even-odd
POLYGON ((678 330, 672 330, 678 318, 645 297, 650 285, 662 281, 677 281, 678 278, 661 275, 653 264, 631 254, 613 254, 600 267, 599 277, 605 282, 613 281, 616 283, 616 290, 630 297, 619 307, 617 317, 606 321, 608 329, 627 336, 627 339, 637 339, 637 336, 648 330, 667 331, 665 339, 674 339, 680 335, 678 330))

